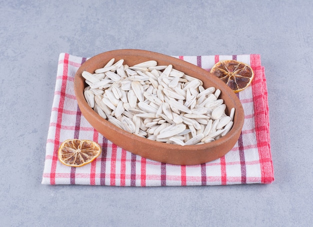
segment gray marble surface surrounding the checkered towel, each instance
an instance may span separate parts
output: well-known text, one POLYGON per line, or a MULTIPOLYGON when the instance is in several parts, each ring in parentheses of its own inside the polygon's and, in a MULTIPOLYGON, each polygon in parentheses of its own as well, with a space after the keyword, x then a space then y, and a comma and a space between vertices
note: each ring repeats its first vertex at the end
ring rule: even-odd
POLYGON ((309 226, 310 0, 0 2, 0 226, 309 226), (275 180, 269 185, 42 185, 60 52, 261 54, 275 180))

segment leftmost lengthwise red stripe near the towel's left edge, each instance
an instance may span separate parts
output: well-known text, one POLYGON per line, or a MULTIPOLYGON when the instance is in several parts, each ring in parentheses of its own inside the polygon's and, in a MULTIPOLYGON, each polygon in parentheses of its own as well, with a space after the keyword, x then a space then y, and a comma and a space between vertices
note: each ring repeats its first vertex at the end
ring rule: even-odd
POLYGON ((59 98, 59 105, 56 117, 56 128, 55 128, 55 136, 54 136, 54 148, 53 148, 53 158, 51 163, 51 170, 50 170, 50 184, 55 184, 55 170, 57 164, 57 150, 59 146, 59 139, 60 139, 60 130, 62 125, 62 109, 64 106, 64 99, 65 99, 65 89, 66 89, 66 81, 67 81, 67 72, 68 72, 68 57, 69 54, 65 53, 64 60, 63 60, 63 76, 62 76, 62 83, 61 83, 61 93, 59 98))

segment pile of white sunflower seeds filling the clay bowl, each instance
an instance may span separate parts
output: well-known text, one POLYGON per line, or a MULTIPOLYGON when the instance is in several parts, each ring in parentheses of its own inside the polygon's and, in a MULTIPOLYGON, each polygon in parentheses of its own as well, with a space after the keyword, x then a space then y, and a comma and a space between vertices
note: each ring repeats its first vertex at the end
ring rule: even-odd
POLYGON ((220 90, 155 60, 133 66, 112 58, 94 73, 82 72, 84 97, 101 117, 130 133, 179 145, 202 144, 232 127, 220 90))

